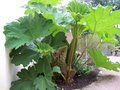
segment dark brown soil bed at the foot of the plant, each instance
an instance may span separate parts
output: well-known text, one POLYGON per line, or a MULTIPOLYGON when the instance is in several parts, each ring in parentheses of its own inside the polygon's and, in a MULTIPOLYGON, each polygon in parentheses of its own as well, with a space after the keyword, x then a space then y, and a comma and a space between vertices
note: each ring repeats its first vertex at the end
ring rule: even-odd
POLYGON ((73 90, 73 89, 82 89, 85 86, 90 85, 91 83, 95 82, 97 80, 97 75, 99 73, 99 69, 95 69, 90 74, 86 76, 79 76, 75 75, 73 78, 74 81, 71 84, 65 84, 60 83, 58 86, 60 87, 60 90, 73 90))

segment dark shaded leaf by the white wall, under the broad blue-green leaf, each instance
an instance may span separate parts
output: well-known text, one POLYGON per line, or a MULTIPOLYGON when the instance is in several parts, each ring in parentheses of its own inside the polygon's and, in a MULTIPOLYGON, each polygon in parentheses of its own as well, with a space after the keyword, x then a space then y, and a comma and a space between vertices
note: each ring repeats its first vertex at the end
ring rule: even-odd
POLYGON ((38 61, 39 59, 39 53, 28 47, 20 47, 17 50, 13 49, 10 56, 13 64, 22 64, 23 66, 27 66, 32 60, 38 61))

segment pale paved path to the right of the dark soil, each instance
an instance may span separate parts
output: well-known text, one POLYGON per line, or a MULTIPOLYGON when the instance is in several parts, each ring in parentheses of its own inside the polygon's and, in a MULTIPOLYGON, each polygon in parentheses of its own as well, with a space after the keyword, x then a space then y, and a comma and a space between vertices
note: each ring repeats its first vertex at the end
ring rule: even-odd
MULTIPOLYGON (((120 62, 120 57, 109 57, 111 61, 120 62)), ((120 72, 100 68, 101 72, 96 82, 76 90, 120 90, 120 72)))

